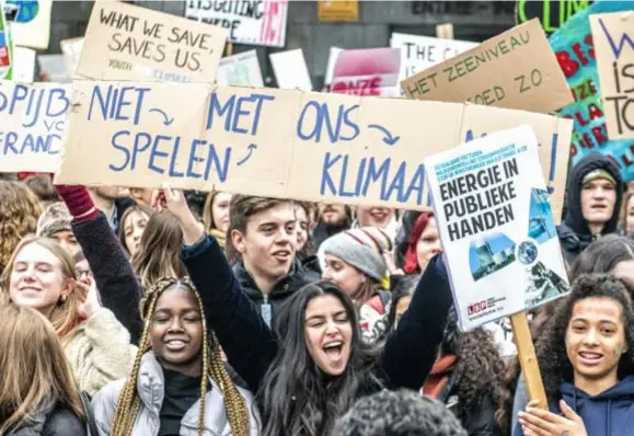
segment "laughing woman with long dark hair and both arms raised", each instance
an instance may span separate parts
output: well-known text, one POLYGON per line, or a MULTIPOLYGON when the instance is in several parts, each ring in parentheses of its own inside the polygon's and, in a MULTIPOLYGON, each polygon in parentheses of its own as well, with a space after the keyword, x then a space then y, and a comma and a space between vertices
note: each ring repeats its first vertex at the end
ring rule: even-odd
POLYGON ((274 332, 183 194, 164 188, 154 205, 181 221, 185 266, 229 363, 257 392, 263 435, 327 435, 358 398, 384 388, 420 388, 436 359, 451 306, 439 257, 418 284, 428 291, 414 295, 399 328, 376 353, 361 340, 353 301, 332 283, 295 292, 280 310, 274 332))

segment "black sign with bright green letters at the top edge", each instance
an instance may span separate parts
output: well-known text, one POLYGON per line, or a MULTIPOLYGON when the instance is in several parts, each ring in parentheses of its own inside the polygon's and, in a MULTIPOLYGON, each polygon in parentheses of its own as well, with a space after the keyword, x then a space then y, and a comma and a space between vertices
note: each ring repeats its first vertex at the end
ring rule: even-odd
POLYGON ((564 25, 574 14, 592 4, 591 0, 518 0, 516 3, 517 23, 539 19, 546 35, 564 25))

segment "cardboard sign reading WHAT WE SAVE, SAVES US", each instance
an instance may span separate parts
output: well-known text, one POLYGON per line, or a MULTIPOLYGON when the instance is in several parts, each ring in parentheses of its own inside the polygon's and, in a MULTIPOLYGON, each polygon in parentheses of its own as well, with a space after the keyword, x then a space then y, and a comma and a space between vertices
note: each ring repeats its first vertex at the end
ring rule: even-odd
POLYGON ((209 82, 227 31, 119 1, 94 3, 77 73, 95 80, 209 82))

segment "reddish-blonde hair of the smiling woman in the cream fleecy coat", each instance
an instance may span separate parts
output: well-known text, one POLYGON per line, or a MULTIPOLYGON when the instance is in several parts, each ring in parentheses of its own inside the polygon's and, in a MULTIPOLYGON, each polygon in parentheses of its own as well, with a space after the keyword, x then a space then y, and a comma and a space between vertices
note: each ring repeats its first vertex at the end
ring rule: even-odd
MULTIPOLYGON (((74 282, 77 279, 77 274, 74 271, 74 263, 68 254, 54 239, 50 238, 41 238, 41 237, 28 237, 24 238, 18 246, 4 272, 2 273, 2 289, 0 291, 0 300, 2 302, 7 302, 11 300, 11 272, 13 271, 13 265, 15 264, 15 259, 22 249, 26 245, 37 244, 46 250, 48 250, 53 255, 55 255, 59 260, 59 265, 61 268, 61 275, 64 280, 74 282)), ((79 324, 79 296, 76 291, 74 285, 72 285, 71 291, 66 296, 66 298, 60 299, 53 312, 48 317, 48 320, 53 324, 53 328, 57 332, 57 335, 64 340, 66 337, 70 337, 70 333, 74 331, 74 328, 79 324)))

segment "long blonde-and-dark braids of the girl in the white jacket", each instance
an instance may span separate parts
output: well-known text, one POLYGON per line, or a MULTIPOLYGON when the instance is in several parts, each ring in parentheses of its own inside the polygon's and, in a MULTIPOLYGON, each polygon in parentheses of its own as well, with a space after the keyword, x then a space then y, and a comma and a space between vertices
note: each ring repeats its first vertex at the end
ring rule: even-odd
POLYGON ((208 378, 206 376, 208 376, 220 388, 220 391, 224 395, 224 410, 227 411, 227 420, 229 421, 231 433, 234 436, 247 436, 250 433, 250 415, 246 402, 224 369, 218 341, 214 335, 211 335, 211 337, 208 336, 203 301, 200 300, 200 296, 194 287, 194 284, 186 277, 182 279, 168 277, 158 280, 148 289, 146 297, 141 301, 140 312, 145 321, 143 332, 139 342, 139 351, 135 359, 132 372, 126 380, 119 395, 111 436, 130 436, 132 434, 135 422, 141 406, 141 401, 137 390, 137 379, 139 377, 141 357, 150 351, 148 334, 152 323, 152 315, 154 313, 157 301, 168 289, 175 289, 178 287, 194 292, 198 306, 200 307, 200 314, 203 315, 203 378, 200 385, 200 405, 198 411, 198 435, 201 436, 205 428, 205 397, 207 394, 208 386, 208 378))

